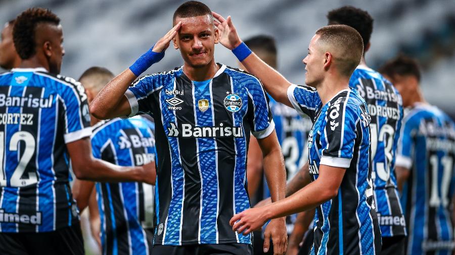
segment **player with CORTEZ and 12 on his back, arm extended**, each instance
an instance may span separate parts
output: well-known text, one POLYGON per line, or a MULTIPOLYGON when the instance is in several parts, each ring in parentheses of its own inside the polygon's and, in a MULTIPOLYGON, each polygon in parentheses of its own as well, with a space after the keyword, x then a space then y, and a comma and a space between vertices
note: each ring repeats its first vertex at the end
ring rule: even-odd
POLYGON ((20 68, 0 75, 0 254, 83 254, 69 165, 78 178, 151 183, 153 169, 93 158, 84 88, 60 72, 63 32, 51 11, 14 23, 20 68))

